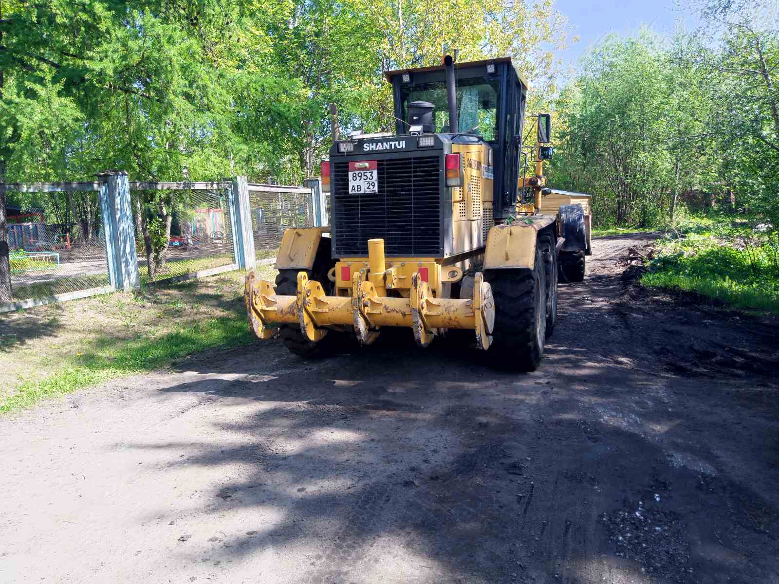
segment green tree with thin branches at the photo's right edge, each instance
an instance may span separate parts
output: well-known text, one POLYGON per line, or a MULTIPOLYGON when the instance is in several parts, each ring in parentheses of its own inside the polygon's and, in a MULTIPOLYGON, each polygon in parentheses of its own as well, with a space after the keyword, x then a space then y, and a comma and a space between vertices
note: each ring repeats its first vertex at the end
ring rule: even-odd
POLYGON ((779 15, 775 2, 705 0, 704 25, 680 62, 696 69, 717 107, 707 135, 721 153, 710 188, 767 221, 779 246, 779 15))

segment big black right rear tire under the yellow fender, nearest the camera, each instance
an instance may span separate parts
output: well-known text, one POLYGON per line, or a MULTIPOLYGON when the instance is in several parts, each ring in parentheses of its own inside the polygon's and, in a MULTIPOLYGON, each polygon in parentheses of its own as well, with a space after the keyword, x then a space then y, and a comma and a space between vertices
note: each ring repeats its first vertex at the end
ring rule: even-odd
POLYGON ((488 356, 513 371, 535 371, 546 340, 546 269, 541 245, 534 269, 491 269, 485 278, 495 298, 495 328, 488 356))

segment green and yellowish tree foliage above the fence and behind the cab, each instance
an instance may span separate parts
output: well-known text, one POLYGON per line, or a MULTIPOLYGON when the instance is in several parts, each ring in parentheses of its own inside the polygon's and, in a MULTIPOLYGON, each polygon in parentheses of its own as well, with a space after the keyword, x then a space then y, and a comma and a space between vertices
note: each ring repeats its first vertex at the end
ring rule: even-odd
MULTIPOLYGON (((391 127, 382 70, 432 65, 447 43, 462 59, 513 55, 551 91, 550 49, 566 42, 548 0, 489 0, 475 16, 464 0, 0 0, 0 20, 9 181, 120 168, 300 184, 329 147, 330 103, 344 132, 391 127)), ((63 196, 44 199, 66 215, 63 196)))

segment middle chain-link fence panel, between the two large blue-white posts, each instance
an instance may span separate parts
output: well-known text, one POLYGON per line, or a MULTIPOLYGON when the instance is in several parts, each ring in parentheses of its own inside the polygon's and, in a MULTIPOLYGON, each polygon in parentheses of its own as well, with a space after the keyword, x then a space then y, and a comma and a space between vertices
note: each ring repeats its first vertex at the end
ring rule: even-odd
POLYGON ((134 212, 145 215, 136 219, 136 252, 142 283, 234 264, 228 188, 162 191, 161 187, 169 185, 131 183, 131 188, 134 185, 158 187, 132 190, 132 196, 143 201, 134 212), (151 257, 146 250, 144 223, 152 243, 151 257))

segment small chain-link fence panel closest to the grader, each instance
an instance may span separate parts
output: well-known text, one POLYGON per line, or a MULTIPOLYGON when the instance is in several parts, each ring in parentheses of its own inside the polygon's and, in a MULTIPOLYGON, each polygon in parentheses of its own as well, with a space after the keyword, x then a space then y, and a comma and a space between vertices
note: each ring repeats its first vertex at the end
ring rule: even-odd
POLYGON ((312 227, 312 192, 305 187, 249 185, 257 260, 275 258, 287 227, 312 227))

